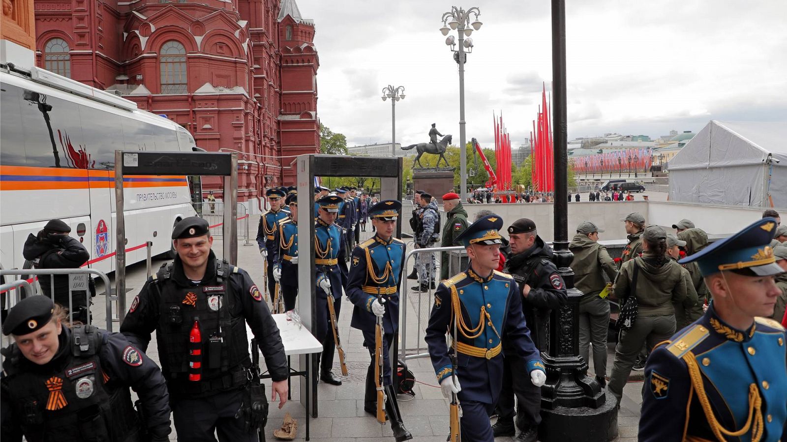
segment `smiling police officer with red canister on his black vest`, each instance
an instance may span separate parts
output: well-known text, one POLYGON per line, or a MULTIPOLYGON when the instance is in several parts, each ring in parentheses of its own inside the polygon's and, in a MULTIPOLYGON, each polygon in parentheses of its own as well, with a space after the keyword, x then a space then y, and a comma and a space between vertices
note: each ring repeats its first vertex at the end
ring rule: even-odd
POLYGON ((249 385, 246 322, 282 407, 288 370, 279 328, 249 274, 216 259, 205 219, 183 219, 172 239, 178 256, 148 279, 120 331, 143 350, 156 331, 179 439, 215 441, 217 431, 223 442, 257 440, 267 407, 249 385))

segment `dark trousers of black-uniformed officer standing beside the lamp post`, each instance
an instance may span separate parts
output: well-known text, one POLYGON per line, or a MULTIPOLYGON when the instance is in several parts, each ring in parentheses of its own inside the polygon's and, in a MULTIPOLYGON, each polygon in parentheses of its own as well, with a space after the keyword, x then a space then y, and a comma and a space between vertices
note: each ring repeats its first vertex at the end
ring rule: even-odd
POLYGON ((515 356, 504 358, 503 388, 497 400, 499 419, 512 419, 515 414, 516 426, 526 430, 541 423, 541 387, 533 385, 527 374, 525 361, 515 356), (516 413, 514 412, 516 397, 516 413))

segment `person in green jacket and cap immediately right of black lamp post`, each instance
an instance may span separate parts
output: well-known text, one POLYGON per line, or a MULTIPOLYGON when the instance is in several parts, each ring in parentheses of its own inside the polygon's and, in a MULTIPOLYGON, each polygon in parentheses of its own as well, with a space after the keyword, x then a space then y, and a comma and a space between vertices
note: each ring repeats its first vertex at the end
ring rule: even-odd
POLYGON ((582 221, 568 249, 574 253, 571 261, 574 286, 583 293, 579 300, 579 355, 589 363, 589 344, 593 344, 593 372, 603 387, 607 385, 609 301, 606 293, 604 298, 599 295, 607 285, 604 274, 609 281, 615 281, 618 268, 607 248, 598 243, 599 232, 604 232, 604 229, 590 221, 582 221))

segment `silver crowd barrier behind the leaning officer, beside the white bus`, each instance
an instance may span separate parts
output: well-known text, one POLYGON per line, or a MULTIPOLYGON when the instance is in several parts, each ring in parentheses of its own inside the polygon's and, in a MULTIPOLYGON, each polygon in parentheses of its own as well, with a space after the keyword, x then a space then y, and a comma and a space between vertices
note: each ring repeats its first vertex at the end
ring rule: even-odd
MULTIPOLYGON (((0 296, 3 297, 6 308, 12 308, 23 299, 21 296, 21 288, 23 287, 27 290, 27 295, 25 297, 42 296, 43 291, 40 288, 40 284, 35 283, 39 279, 38 276, 41 274, 68 275, 68 305, 64 305, 63 307, 68 308, 69 322, 72 322, 74 318, 73 293, 84 291, 84 296, 86 298, 85 305, 87 305, 88 309, 87 323, 91 323, 90 306, 92 293, 89 281, 91 275, 95 275, 102 279, 105 293, 110 293, 109 289, 112 287, 112 285, 109 283, 109 277, 104 272, 91 268, 0 270, 0 276, 6 277, 6 279, 8 279, 9 276, 17 277, 12 278, 11 282, 7 282, 6 284, 0 286, 0 296)), ((53 294, 53 297, 55 293, 54 279, 55 278, 50 278, 50 293, 53 294)), ((107 319, 106 330, 110 332, 113 331, 112 322, 113 320, 116 320, 112 315, 112 304, 113 302, 116 303, 117 300, 118 298, 116 295, 109 295, 105 302, 107 319)), ((120 306, 116 307, 115 310, 118 311, 119 308, 120 306)), ((125 306, 123 306, 123 308, 125 309, 125 306)))

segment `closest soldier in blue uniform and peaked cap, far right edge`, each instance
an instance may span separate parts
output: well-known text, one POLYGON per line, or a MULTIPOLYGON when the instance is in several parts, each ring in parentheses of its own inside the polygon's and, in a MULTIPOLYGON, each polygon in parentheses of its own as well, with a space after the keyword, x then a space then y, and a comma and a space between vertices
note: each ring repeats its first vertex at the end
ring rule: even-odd
POLYGON ((787 440, 787 334, 770 319, 780 290, 763 218, 696 261, 713 301, 645 366, 639 440, 787 440))

